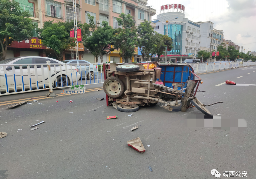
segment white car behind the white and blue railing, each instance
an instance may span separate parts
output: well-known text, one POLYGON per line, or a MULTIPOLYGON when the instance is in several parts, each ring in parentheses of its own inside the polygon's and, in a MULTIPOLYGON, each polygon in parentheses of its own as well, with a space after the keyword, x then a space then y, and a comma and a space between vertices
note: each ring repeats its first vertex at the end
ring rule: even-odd
MULTIPOLYGON (((5 87, 5 81, 7 78, 7 83, 8 83, 8 91, 14 91, 15 85, 14 85, 14 80, 13 80, 13 71, 12 67, 8 66, 8 64, 46 64, 46 61, 50 61, 51 64, 64 64, 61 61, 55 60, 53 58, 47 58, 47 57, 37 57, 37 56, 30 56, 30 57, 13 57, 13 58, 8 58, 0 62, 0 64, 6 64, 6 74, 7 77, 5 77, 4 74, 4 68, 3 66, 0 67, 0 91, 6 91, 5 87)), ((71 80, 73 80, 73 83, 76 82, 76 75, 77 79, 80 78, 80 74, 78 72, 78 69, 76 67, 72 66, 72 72, 70 65, 67 65, 67 74, 66 74, 66 68, 65 64, 62 65, 62 86, 61 86, 61 75, 60 75, 60 65, 55 65, 56 68, 56 76, 57 76, 57 82, 55 81, 55 70, 54 70, 54 65, 51 65, 51 83, 53 87, 65 87, 69 86, 71 83, 71 80), (71 75, 72 74, 72 75, 71 75), (66 79, 66 75, 68 76, 68 79, 66 79)), ((22 73, 23 73, 23 79, 20 71, 19 66, 14 66, 14 71, 15 71, 15 78, 16 78, 16 86, 17 90, 25 90, 25 89, 30 89, 30 79, 28 76, 28 69, 27 65, 22 65, 22 73), (24 87, 22 86, 22 80, 24 83, 24 87)), ((48 70, 47 66, 43 66, 43 72, 44 72, 44 77, 42 76, 42 69, 41 65, 37 66, 37 80, 36 80, 36 71, 34 69, 34 65, 30 65, 30 78, 31 78, 31 88, 42 88, 44 87, 43 84, 43 78, 45 79, 45 87, 48 85, 48 70)))

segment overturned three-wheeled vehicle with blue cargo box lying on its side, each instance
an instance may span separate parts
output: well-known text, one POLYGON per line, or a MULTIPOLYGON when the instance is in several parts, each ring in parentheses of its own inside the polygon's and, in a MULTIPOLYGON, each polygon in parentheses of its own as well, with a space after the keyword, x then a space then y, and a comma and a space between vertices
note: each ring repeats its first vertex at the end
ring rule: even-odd
POLYGON ((188 64, 110 63, 104 64, 103 70, 107 106, 112 104, 119 111, 135 112, 139 106, 160 102, 169 111, 181 106, 181 111, 185 112, 194 106, 205 115, 211 115, 195 97, 203 82, 188 64))

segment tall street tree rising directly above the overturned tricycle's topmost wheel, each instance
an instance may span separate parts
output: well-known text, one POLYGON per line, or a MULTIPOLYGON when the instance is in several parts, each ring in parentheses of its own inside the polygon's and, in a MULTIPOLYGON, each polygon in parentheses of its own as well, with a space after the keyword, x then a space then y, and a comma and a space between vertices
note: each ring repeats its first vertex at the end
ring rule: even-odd
POLYGON ((114 48, 120 50, 119 54, 122 57, 122 61, 124 61, 126 58, 131 58, 135 52, 137 29, 130 14, 121 13, 119 17, 117 21, 118 25, 122 26, 122 29, 119 29, 118 33, 114 35, 114 48))

